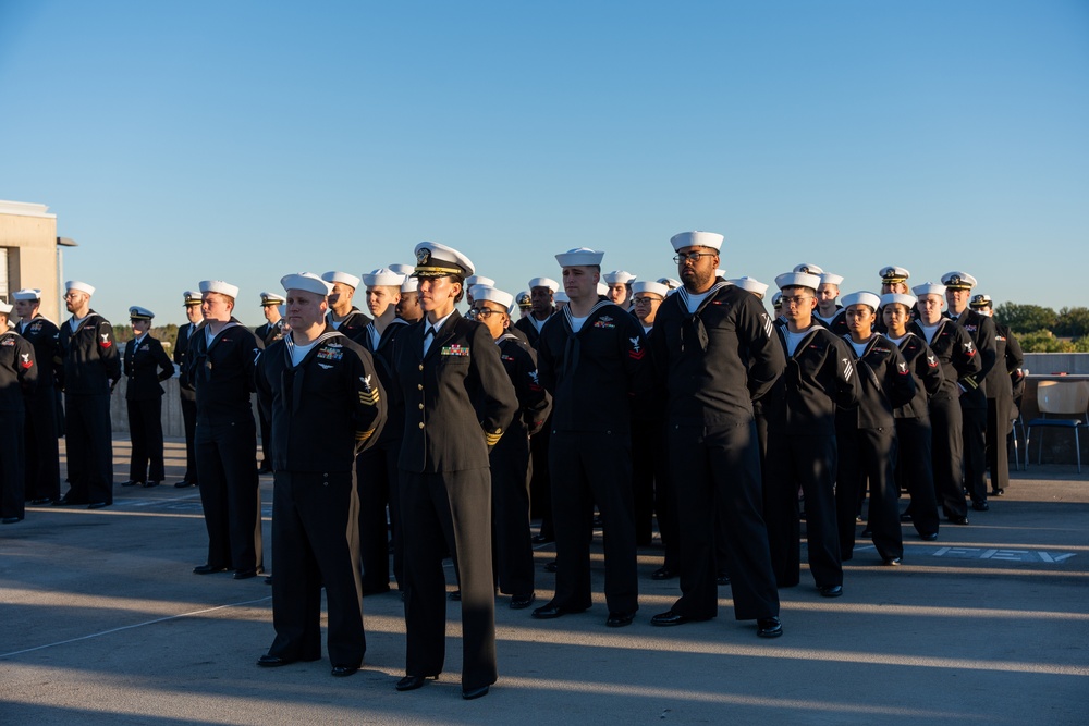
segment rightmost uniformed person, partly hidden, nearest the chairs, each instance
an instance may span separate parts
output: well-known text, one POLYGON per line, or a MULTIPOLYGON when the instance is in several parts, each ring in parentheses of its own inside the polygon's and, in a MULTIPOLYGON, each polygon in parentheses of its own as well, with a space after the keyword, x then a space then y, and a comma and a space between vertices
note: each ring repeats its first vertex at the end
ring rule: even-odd
MULTIPOLYGON (((971 309, 994 319, 990 295, 974 295, 971 309)), ((994 367, 987 376, 987 468, 991 471, 991 495, 1002 496, 1010 485, 1010 452, 1006 436, 1014 420, 1012 376, 1025 362, 1025 354, 1010 328, 994 322, 994 367)))

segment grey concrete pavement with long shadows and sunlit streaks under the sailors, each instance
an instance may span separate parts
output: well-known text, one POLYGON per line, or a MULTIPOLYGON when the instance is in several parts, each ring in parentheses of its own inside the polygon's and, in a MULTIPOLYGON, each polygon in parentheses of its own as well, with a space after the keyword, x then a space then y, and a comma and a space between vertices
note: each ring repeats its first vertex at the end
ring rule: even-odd
MULTIPOLYGON (((184 452, 168 450, 171 483, 184 452)), ((120 482, 127 444, 114 454, 120 482)), ((1028 473, 937 542, 905 526, 903 567, 856 551, 839 600, 820 598, 804 571, 781 591, 785 635, 772 641, 733 619, 729 588, 717 619, 652 627, 677 594, 676 580, 650 579, 659 547, 640 551, 635 624, 605 628, 599 533, 595 606, 537 622, 500 598, 500 680, 470 702, 460 697, 457 603, 446 670, 418 691, 393 689, 404 675, 396 591, 364 602, 359 674, 332 678, 327 660, 262 669, 270 589, 191 574, 206 552, 196 490, 118 487, 97 512, 29 507, 0 527, 0 724, 1082 724, 1089 472, 1028 473)), ((269 477, 261 489, 268 564, 269 477)), ((539 603, 553 583, 538 570, 539 603)))

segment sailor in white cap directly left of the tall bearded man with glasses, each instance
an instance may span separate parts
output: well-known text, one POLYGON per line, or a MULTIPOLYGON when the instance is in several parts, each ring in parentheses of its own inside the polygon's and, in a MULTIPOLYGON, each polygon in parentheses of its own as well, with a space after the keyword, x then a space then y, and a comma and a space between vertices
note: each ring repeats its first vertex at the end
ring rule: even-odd
POLYGON ((555 259, 570 303, 541 330, 537 365, 552 394, 552 521, 556 578, 550 619, 589 610, 594 505, 601 512, 608 627, 631 625, 638 603, 632 418, 651 406, 653 366, 643 328, 598 291, 604 253, 585 247, 555 259))

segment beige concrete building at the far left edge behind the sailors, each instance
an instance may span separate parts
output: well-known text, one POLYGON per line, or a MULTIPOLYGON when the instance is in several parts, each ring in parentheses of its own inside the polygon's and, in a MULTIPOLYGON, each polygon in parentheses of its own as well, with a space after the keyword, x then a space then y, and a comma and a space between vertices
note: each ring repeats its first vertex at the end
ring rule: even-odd
POLYGON ((57 214, 46 205, 0 200, 0 298, 23 287, 41 291, 41 315, 61 320, 61 249, 75 243, 57 236, 57 214))

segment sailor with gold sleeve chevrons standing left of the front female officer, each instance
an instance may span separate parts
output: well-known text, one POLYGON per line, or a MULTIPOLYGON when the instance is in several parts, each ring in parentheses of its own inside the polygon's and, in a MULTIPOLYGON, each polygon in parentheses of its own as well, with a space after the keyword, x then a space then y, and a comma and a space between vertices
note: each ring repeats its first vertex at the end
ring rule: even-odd
POLYGON ((329 610, 332 675, 363 664, 355 457, 386 416, 370 354, 326 322, 332 285, 316 274, 281 280, 291 332, 257 359, 256 387, 272 419, 272 625, 257 665, 321 657, 321 590, 329 610))

